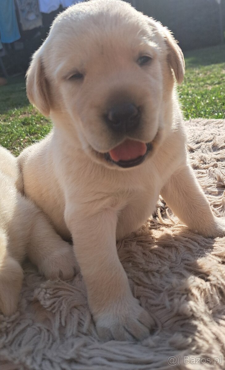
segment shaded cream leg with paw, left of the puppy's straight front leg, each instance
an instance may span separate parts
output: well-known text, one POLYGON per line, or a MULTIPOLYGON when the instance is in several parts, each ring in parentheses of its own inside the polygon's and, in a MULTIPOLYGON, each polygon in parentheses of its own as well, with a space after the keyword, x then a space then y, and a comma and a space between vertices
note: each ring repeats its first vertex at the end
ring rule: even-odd
MULTIPOLYGON (((37 265, 47 279, 71 279, 78 270, 73 247, 61 239, 43 213, 32 203, 30 212, 33 215, 33 227, 27 254, 31 262, 37 265)), ((28 215, 31 217, 31 213, 28 212, 28 215)))

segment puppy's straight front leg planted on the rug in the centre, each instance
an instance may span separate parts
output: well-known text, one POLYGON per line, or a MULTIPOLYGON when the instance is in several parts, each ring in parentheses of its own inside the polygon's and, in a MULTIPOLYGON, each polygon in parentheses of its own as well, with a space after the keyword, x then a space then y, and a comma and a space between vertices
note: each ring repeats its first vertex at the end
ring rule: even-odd
POLYGON ((105 209, 82 217, 67 214, 74 250, 84 277, 88 302, 103 339, 142 339, 153 320, 132 296, 127 275, 116 249, 117 215, 105 209))

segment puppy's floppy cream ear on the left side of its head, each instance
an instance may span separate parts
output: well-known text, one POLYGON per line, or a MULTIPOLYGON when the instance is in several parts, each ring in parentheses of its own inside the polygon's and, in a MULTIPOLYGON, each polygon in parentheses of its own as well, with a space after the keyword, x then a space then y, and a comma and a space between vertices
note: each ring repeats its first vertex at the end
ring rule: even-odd
POLYGON ((50 114, 50 91, 40 49, 34 53, 26 74, 27 96, 46 117, 50 114))

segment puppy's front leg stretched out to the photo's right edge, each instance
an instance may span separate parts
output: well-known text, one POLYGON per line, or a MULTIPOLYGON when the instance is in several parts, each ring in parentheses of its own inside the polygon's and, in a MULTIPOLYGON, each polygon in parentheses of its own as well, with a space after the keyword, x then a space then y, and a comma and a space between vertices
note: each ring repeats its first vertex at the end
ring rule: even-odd
POLYGON ((175 215, 193 231, 205 237, 225 234, 225 219, 214 216, 191 166, 185 164, 175 172, 161 195, 175 215))

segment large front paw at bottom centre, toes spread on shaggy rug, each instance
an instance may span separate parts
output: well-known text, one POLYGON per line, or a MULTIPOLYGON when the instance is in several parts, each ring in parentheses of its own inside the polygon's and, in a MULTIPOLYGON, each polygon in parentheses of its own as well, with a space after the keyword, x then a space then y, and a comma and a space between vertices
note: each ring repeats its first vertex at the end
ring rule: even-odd
POLYGON ((94 318, 97 333, 104 340, 141 340, 149 336, 154 325, 154 320, 134 297, 131 302, 120 302, 94 318))

